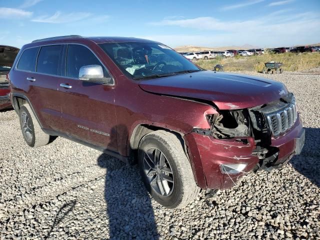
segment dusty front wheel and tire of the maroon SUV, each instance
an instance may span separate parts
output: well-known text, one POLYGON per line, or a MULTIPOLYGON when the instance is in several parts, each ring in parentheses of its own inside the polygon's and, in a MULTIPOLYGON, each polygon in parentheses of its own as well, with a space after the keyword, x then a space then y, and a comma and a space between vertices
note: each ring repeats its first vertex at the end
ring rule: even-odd
MULTIPOLYGON (((153 160, 154 163, 156 160, 155 158, 153 160)), ((143 183, 148 192, 154 200, 167 208, 182 208, 199 193, 200 188, 195 183, 190 162, 185 155, 180 140, 173 133, 157 130, 143 136, 138 149, 138 164, 143 183), (160 170, 159 165, 152 164, 151 158, 156 155, 157 151, 160 152, 158 158, 162 159, 158 162, 165 163, 160 165, 165 165, 166 175, 160 170), (171 173, 169 173, 170 171, 171 173), (170 179, 170 181, 164 181, 163 183, 161 179, 164 178, 161 178, 162 176, 170 179), (157 181, 158 179, 160 180, 157 181), (154 181, 151 185, 152 180, 154 181), (161 188, 163 193, 160 192, 161 188)))

